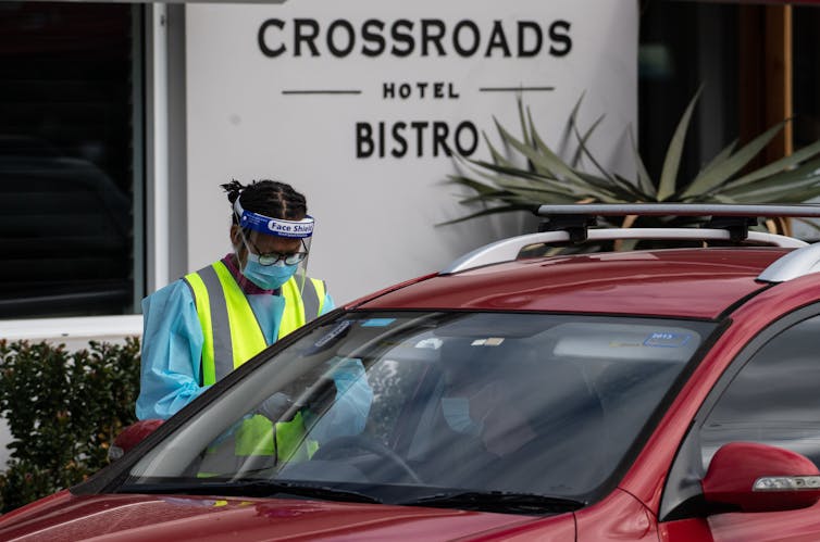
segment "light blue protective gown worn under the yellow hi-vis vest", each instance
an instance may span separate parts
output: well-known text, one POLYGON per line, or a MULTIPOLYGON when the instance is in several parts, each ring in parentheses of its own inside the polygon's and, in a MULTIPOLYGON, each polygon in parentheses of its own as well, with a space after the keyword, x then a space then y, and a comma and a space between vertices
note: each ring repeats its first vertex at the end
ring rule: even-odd
MULTIPOLYGON (((271 293, 247 294, 268 344, 278 337, 285 299, 271 293)), ((322 314, 335 308, 325 294, 322 314)), ((200 386, 200 357, 204 338, 194 295, 179 279, 142 300, 142 353, 140 390, 136 413, 139 419, 167 419, 204 392, 200 386)), ((356 434, 364 428, 373 392, 361 362, 340 366, 334 373, 337 404, 326 414, 316 440, 356 434)))

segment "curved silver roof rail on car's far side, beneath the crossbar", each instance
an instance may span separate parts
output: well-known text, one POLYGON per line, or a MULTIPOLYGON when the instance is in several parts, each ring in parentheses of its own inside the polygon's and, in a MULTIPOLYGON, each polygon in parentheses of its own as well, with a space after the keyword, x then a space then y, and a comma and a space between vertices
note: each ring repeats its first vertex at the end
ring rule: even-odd
MULTIPOLYGON (((820 216, 820 215, 818 215, 820 216)), ((731 241, 726 229, 708 228, 601 228, 587 230, 588 241, 608 240, 673 240, 673 241, 731 241)), ((798 249, 808 243, 792 237, 762 231, 749 231, 745 239, 750 244, 798 249)), ((474 267, 514 261, 522 249, 532 244, 572 242, 569 231, 544 231, 502 239, 481 247, 452 262, 439 275, 451 275, 474 267)))

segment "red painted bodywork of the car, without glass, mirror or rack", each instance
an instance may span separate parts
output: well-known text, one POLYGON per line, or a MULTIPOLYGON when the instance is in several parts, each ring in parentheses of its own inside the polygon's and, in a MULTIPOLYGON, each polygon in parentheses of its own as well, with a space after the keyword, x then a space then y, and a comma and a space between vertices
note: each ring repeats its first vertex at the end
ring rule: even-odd
POLYGON ((536 259, 422 277, 348 305, 722 319, 725 329, 682 385, 635 461, 624 466, 618 487, 575 513, 535 517, 306 500, 62 492, 0 517, 0 539, 820 540, 818 504, 783 512, 658 518, 670 466, 718 379, 772 322, 820 300, 818 275, 774 286, 756 280, 786 252, 664 250, 536 259))

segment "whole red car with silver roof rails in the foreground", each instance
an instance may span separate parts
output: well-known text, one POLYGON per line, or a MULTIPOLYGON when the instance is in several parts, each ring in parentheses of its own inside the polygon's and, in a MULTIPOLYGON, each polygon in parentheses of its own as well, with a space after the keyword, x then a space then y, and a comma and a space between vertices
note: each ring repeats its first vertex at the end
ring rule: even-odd
POLYGON ((544 207, 274 344, 0 540, 820 540, 820 245, 748 219, 818 209, 583 209, 712 226, 544 207), (698 247, 536 250, 613 238, 698 247))

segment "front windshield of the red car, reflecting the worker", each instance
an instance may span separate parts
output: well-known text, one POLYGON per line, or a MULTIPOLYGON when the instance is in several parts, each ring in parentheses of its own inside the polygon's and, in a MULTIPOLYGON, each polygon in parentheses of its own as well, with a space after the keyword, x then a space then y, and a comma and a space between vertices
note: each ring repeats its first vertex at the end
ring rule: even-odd
POLYGON ((576 506, 610 479, 713 327, 341 313, 248 364, 120 491, 576 506))

